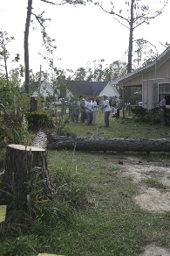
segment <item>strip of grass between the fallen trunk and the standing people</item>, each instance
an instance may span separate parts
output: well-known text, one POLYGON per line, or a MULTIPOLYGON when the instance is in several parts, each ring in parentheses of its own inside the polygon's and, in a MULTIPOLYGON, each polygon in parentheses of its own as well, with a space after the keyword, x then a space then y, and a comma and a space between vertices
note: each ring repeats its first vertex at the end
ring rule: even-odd
POLYGON ((116 119, 112 115, 109 118, 110 128, 105 129, 104 113, 97 114, 97 125, 71 123, 66 126, 71 132, 79 137, 111 137, 124 139, 161 139, 170 138, 169 126, 160 127, 160 124, 143 123, 136 118, 116 119))

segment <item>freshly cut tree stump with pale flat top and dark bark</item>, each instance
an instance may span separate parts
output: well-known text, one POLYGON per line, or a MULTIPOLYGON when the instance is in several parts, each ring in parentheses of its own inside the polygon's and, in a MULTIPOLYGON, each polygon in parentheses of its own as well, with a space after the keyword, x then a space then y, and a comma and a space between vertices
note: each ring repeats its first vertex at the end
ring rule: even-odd
POLYGON ((3 181, 10 192, 29 194, 33 184, 43 187, 44 194, 51 197, 46 150, 36 146, 8 145, 3 181))

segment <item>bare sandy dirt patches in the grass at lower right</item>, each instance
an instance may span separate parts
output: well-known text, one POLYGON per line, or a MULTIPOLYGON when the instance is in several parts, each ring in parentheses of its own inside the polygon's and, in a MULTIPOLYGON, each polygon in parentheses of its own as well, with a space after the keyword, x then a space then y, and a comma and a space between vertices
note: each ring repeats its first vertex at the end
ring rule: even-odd
MULTIPOLYGON (((137 194, 134 200, 144 210, 165 212, 170 211, 170 162, 147 162, 136 158, 126 157, 121 161, 122 168, 116 172, 119 177, 131 177, 137 184, 137 194), (151 188, 143 182, 144 179, 153 178, 165 185, 163 188, 151 188)), ((139 256, 170 256, 166 248, 156 245, 146 245, 145 252, 139 256)))

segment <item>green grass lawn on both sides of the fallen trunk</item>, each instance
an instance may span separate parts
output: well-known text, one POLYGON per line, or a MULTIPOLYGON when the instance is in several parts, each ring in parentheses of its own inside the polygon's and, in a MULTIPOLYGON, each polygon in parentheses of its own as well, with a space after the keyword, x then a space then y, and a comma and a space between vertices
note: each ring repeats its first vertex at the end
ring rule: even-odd
MULTIPOLYGON (((134 119, 110 117, 110 128, 105 129, 103 115, 98 114, 97 125, 71 123, 67 129, 80 137, 170 137, 170 127, 134 119)), ((111 175, 123 168, 114 161, 122 154, 150 161, 169 158, 169 153, 49 151, 48 168, 57 200, 42 203, 30 226, 15 226, 12 219, 1 224, 0 255, 133 256, 153 242, 169 248, 170 213, 140 209, 133 199, 137 193, 133 179, 111 175)))

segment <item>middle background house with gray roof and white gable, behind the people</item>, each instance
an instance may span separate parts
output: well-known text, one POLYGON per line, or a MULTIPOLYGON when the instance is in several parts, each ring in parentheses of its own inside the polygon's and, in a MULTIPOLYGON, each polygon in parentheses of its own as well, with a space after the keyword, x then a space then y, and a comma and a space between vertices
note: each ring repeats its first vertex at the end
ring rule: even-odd
POLYGON ((66 97, 72 96, 99 96, 104 95, 110 99, 112 96, 119 96, 119 92, 112 86, 112 82, 91 82, 91 81, 65 81, 66 97))

